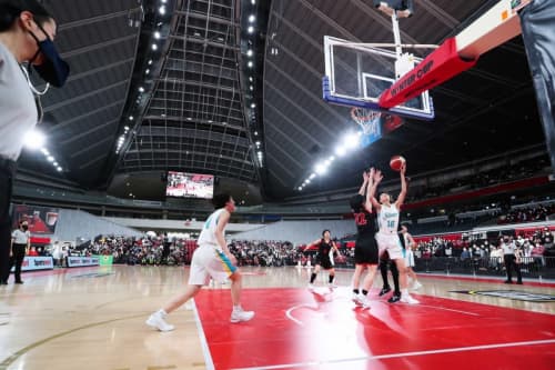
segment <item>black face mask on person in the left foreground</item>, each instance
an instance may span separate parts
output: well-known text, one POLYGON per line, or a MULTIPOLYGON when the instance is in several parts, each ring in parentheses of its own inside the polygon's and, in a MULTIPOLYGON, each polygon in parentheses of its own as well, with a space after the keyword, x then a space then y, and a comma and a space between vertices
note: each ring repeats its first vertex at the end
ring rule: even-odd
POLYGON ((40 66, 33 66, 34 70, 39 73, 41 79, 57 88, 61 88, 70 73, 69 64, 60 57, 58 50, 56 50, 54 43, 50 40, 44 29, 39 23, 37 23, 37 26, 47 38, 43 41, 39 41, 34 33, 29 32, 39 46, 39 50, 30 60, 29 66, 32 66, 32 62, 39 57, 39 53, 42 53, 43 62, 40 66))

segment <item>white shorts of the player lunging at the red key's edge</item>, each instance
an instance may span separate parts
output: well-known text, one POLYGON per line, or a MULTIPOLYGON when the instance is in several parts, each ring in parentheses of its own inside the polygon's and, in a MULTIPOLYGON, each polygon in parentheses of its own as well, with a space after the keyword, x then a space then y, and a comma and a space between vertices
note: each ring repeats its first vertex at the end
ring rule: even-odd
POLYGON ((218 282, 225 282, 236 270, 238 268, 222 251, 212 246, 199 247, 191 261, 189 284, 206 286, 210 278, 218 282))

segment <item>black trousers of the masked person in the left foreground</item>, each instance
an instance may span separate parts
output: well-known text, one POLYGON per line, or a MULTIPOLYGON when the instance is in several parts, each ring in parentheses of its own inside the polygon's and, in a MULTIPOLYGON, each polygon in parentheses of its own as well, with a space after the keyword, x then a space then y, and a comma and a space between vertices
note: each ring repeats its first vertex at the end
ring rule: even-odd
POLYGON ((0 282, 10 274, 11 217, 10 202, 16 163, 0 158, 0 282))

